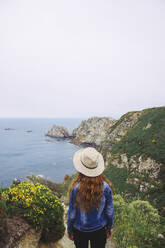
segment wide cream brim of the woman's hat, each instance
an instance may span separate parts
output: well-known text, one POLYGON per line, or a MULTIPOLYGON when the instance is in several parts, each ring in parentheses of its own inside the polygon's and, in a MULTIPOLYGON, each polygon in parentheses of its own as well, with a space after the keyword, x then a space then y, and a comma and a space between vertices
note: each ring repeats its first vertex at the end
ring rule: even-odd
POLYGON ((84 148, 78 150, 77 152, 75 152, 74 156, 73 156, 73 164, 75 169, 82 173, 85 176, 88 177, 97 177, 99 175, 101 175, 104 171, 104 159, 103 156, 101 154, 99 154, 99 158, 98 158, 98 166, 94 169, 88 169, 87 167, 85 167, 82 163, 81 163, 81 154, 82 151, 84 150, 84 148))

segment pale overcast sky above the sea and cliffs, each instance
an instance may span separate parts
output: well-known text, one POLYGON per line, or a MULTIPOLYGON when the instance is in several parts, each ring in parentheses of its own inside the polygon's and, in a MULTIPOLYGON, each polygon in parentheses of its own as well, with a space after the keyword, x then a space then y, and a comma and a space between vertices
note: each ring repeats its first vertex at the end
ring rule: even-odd
POLYGON ((0 117, 162 105, 164 0, 0 0, 0 117))

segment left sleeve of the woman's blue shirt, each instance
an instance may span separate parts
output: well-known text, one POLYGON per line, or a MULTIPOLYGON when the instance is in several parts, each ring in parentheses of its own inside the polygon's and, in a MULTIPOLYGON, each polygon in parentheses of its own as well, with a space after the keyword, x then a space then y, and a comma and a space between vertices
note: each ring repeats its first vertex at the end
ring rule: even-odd
POLYGON ((76 188, 72 190, 70 200, 69 200, 69 209, 68 209, 68 217, 67 217, 67 232, 71 234, 73 231, 73 223, 76 218, 76 208, 74 206, 75 198, 76 198, 76 188))

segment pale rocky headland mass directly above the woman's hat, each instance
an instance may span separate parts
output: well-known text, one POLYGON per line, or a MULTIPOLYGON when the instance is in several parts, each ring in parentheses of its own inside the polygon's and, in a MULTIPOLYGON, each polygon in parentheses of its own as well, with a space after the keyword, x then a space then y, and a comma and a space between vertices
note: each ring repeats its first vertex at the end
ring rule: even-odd
POLYGON ((107 135, 109 129, 116 123, 116 120, 108 117, 93 117, 84 120, 72 131, 74 137, 71 143, 76 145, 99 146, 107 135))

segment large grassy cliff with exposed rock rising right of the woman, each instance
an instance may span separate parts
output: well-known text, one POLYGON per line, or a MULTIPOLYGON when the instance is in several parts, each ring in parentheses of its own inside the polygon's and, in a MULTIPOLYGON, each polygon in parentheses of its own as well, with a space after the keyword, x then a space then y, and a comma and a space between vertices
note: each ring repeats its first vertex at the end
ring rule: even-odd
POLYGON ((100 151, 107 166, 106 173, 112 181, 114 167, 118 168, 118 174, 120 171, 122 174, 124 169, 127 174, 126 183, 134 185, 137 192, 143 192, 146 199, 163 211, 165 107, 123 115, 109 129, 100 151))

